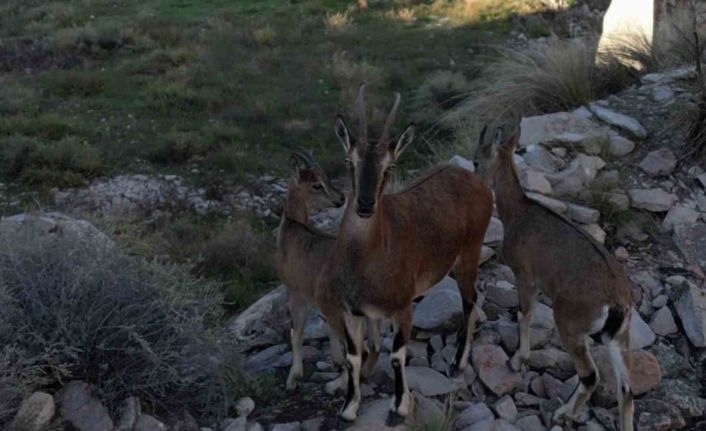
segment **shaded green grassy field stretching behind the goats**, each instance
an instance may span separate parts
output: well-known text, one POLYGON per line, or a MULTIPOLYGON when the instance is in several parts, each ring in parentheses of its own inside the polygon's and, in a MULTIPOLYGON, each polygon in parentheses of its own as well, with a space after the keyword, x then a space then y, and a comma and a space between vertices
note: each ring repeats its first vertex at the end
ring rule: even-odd
MULTIPOLYGON (((186 173, 193 156, 200 172, 225 169, 235 179, 282 173, 293 146, 340 158, 332 116, 349 110, 361 82, 370 84, 380 119, 393 91, 409 101, 439 71, 473 75, 483 50, 469 48, 502 37, 512 13, 536 7, 390 1, 361 13, 350 6, 9 0, 0 6, 0 37, 14 55, 0 63, 9 84, 0 91, 0 136, 76 136, 107 161, 106 174, 144 170, 138 159, 186 173), (33 50, 41 55, 28 55, 33 50), (226 139, 214 138, 214 124, 226 139), (165 154, 170 149, 174 155, 165 154)), ((406 103, 400 127, 419 117, 415 110, 429 112, 406 103)))

